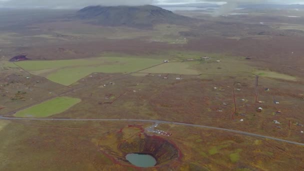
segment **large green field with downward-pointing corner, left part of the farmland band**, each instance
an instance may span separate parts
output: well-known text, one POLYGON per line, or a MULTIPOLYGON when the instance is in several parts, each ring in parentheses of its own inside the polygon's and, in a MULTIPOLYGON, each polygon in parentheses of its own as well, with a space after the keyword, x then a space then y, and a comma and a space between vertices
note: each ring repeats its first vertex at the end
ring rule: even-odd
POLYGON ((92 72, 129 73, 161 63, 161 59, 139 57, 95 57, 70 60, 26 60, 18 65, 32 74, 70 85, 92 72))

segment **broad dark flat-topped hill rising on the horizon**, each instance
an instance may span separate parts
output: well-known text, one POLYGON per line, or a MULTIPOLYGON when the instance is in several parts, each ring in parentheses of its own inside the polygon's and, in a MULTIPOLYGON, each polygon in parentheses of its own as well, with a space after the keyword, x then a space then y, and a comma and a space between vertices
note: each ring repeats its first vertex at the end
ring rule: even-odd
POLYGON ((76 16, 94 24, 139 28, 150 28, 159 23, 186 24, 193 20, 153 5, 87 6, 76 16))

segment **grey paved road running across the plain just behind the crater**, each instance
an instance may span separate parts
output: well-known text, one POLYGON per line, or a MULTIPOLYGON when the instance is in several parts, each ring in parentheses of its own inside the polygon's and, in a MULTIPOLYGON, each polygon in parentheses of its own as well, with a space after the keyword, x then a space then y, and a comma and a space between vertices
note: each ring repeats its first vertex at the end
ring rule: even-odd
POLYGON ((70 121, 136 121, 136 122, 138 121, 138 122, 152 122, 152 123, 157 123, 157 124, 169 123, 169 124, 177 124, 177 125, 184 125, 184 126, 193 126, 193 127, 202 127, 202 128, 208 128, 208 129, 222 130, 222 131, 227 131, 227 132, 232 132, 232 133, 243 134, 243 135, 247 135, 247 136, 255 136, 255 137, 272 139, 272 140, 277 140, 277 141, 281 141, 281 142, 304 146, 304 143, 294 142, 294 141, 290 141, 290 140, 285 140, 285 139, 280 139, 280 138, 275 138, 275 137, 271 137, 271 136, 265 136, 265 135, 250 133, 250 132, 244 132, 244 131, 226 129, 226 128, 220 128, 220 127, 213 127, 213 126, 204 126, 204 125, 198 125, 198 124, 164 121, 164 120, 98 119, 98 118, 22 118, 22 117, 4 117, 4 116, 0 116, 0 119, 4 119, 4 120, 62 120, 62 121, 64 121, 64 120, 70 120, 70 121))

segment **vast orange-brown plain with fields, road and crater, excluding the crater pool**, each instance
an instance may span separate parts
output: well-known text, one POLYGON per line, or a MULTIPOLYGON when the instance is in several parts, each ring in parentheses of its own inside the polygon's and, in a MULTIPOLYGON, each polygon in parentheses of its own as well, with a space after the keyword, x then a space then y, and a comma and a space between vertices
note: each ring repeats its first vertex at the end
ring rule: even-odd
POLYGON ((0 12, 0 170, 304 169, 301 20, 156 9, 0 12))

